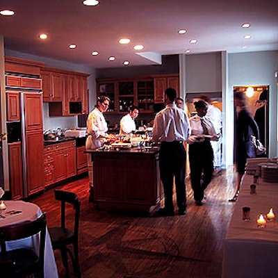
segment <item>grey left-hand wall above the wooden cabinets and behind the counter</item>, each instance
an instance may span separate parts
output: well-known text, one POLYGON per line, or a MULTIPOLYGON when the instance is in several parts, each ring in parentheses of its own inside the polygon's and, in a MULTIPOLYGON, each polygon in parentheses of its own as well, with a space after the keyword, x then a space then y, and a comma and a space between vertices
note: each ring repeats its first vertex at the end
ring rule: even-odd
MULTIPOLYGON (((89 108, 92 107, 92 101, 95 99, 95 70, 92 70, 90 67, 85 67, 83 65, 78 65, 74 63, 68 63, 63 60, 56 60, 41 56, 35 56, 31 54, 24 54, 22 52, 13 51, 5 49, 5 55, 11 57, 22 58, 26 60, 35 60, 38 62, 45 63, 46 67, 53 67, 60 70, 69 70, 72 72, 83 72, 85 74, 90 74, 88 77, 88 102, 89 108)), ((43 113, 44 113, 44 130, 46 129, 57 129, 58 127, 62 129, 70 129, 72 126, 78 126, 77 116, 71 117, 49 117, 49 108, 48 104, 43 104, 43 113)))

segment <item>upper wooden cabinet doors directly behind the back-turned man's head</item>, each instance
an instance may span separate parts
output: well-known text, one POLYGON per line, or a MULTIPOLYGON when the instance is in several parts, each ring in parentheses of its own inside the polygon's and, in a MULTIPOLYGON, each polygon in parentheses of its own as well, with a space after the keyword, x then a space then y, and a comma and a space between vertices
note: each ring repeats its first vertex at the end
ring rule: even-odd
POLYGON ((154 102, 156 104, 164 102, 164 92, 167 88, 177 90, 179 96, 179 75, 158 76, 154 78, 154 102))

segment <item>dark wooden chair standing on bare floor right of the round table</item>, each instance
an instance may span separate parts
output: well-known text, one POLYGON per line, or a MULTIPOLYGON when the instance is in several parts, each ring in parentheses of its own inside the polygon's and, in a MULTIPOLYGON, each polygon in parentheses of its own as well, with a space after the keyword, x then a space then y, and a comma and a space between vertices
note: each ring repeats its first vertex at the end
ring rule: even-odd
POLYGON ((70 254, 72 265, 74 268, 75 277, 81 277, 81 271, 79 266, 79 215, 80 215, 80 200, 79 197, 72 192, 63 190, 54 190, 55 198, 61 202, 60 211, 60 227, 50 227, 49 235, 51 238, 52 247, 54 250, 60 250, 63 265, 65 266, 66 277, 70 277, 70 270, 67 260, 67 254, 70 254), (66 215, 67 222, 69 221, 70 213, 66 210, 66 203, 72 205, 74 208, 73 215, 73 229, 69 229, 66 226, 66 215), (70 250, 70 245, 73 246, 73 251, 70 250))

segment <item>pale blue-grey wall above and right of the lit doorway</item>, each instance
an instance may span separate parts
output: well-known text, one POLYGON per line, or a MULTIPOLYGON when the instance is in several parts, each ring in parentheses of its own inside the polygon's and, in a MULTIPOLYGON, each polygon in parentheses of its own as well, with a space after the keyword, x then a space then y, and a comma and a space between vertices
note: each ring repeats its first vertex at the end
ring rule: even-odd
POLYGON ((277 141, 277 77, 278 51, 260 51, 229 54, 228 58, 228 89, 239 85, 269 85, 270 110, 270 157, 278 155, 277 141))

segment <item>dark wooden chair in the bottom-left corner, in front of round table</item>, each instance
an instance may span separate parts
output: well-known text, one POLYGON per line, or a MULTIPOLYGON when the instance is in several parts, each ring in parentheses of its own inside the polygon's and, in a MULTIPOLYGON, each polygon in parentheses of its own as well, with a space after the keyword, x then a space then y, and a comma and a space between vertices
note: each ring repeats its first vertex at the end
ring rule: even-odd
MULTIPOLYGON (((44 277, 44 245, 46 233, 46 213, 42 213, 40 218, 6 227, 0 227, 0 265, 3 266, 3 273, 8 273, 4 277, 26 277, 35 274, 36 277, 44 277), (19 240, 35 236, 40 233, 39 254, 26 248, 19 248, 7 251, 6 243, 10 240, 19 240)), ((1 273, 0 270, 0 273, 1 273)))

